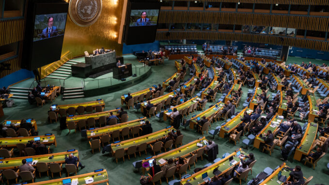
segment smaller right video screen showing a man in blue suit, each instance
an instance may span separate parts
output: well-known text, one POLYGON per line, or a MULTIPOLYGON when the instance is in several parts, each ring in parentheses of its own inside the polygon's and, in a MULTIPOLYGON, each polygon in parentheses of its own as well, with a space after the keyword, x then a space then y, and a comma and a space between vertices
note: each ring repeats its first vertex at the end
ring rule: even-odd
POLYGON ((159 10, 132 10, 129 26, 157 25, 159 10))

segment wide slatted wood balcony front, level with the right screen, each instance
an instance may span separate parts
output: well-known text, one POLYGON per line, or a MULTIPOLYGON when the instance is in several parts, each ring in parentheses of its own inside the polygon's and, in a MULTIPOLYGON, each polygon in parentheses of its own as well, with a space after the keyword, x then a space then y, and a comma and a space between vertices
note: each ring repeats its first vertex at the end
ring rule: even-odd
POLYGON ((238 24, 326 32, 329 28, 329 17, 166 10, 160 11, 159 23, 238 24))

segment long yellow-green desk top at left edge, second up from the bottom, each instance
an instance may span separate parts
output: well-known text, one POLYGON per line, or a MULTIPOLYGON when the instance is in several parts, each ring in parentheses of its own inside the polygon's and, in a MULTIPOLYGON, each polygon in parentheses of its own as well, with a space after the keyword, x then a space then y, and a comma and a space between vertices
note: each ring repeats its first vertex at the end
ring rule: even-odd
POLYGON ((74 156, 79 158, 78 151, 70 152, 59 152, 59 153, 49 153, 45 155, 34 155, 34 156, 25 156, 25 157, 13 157, 8 159, 0 159, 0 169, 14 169, 22 165, 22 159, 32 158, 32 160, 37 160, 38 162, 45 163, 64 163, 65 155, 73 153, 74 156), (50 156, 54 156, 52 159, 49 159, 50 156), (7 162, 8 161, 8 162, 7 162), (7 162, 7 163, 6 163, 7 162))

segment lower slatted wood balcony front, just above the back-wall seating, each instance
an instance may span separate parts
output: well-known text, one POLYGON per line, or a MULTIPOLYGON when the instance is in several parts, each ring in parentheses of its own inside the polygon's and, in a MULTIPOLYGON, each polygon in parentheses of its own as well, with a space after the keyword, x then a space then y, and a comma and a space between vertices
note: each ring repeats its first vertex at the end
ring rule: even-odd
POLYGON ((329 42, 316 41, 310 39, 284 37, 283 41, 278 36, 261 35, 261 34, 240 34, 240 33, 219 33, 219 32, 202 32, 202 31, 177 31, 170 32, 157 32, 156 40, 237 40, 244 42, 254 42, 263 44, 294 46, 300 48, 309 48, 313 50, 329 51, 329 42))

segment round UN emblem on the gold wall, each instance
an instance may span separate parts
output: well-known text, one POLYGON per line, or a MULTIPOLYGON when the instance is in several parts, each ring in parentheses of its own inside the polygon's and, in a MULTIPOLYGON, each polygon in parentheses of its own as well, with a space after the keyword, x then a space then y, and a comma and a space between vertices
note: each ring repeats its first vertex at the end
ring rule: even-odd
POLYGON ((78 26, 90 26, 100 16, 102 0, 70 0, 69 14, 78 26))

